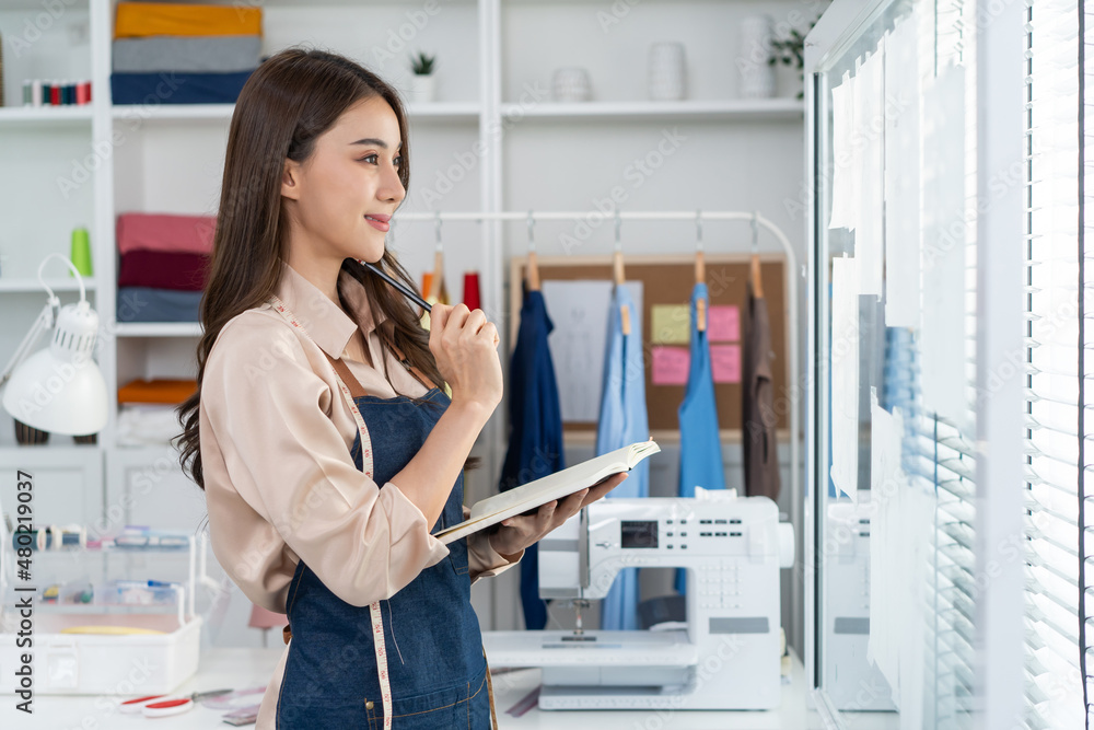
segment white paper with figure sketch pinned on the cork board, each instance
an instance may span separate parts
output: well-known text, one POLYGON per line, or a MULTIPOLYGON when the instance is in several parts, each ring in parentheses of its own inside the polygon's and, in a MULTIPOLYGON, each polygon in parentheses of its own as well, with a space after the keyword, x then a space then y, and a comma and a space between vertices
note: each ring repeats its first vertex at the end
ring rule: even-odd
MULTIPOLYGON (((610 281, 544 281, 555 329, 548 338, 558 380, 563 422, 596 422, 604 376, 604 333, 608 328, 610 281)), ((642 282, 627 289, 641 305, 642 282)))

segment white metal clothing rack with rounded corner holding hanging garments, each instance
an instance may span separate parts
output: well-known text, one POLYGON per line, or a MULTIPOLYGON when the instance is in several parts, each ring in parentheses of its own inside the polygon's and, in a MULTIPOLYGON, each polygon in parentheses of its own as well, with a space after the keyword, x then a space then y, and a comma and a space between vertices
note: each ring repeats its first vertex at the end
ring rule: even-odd
MULTIPOLYGON (((601 222, 606 222, 608 220, 614 220, 618 227, 620 221, 691 221, 694 222, 700 232, 700 237, 698 239, 697 251, 706 251, 711 253, 711 250, 702 244, 701 231, 703 221, 741 221, 744 223, 749 223, 754 227, 754 232, 763 228, 770 232, 776 240, 779 242, 783 254, 787 257, 787 266, 784 267, 785 273, 785 292, 787 292, 787 352, 789 354, 788 373, 789 393, 776 394, 776 398, 789 398, 791 402, 790 408, 790 488, 791 488, 791 517, 794 522, 799 522, 802 518, 800 510, 803 502, 804 495, 802 494, 802 470, 801 466, 801 454, 799 453, 799 429, 800 429, 800 416, 799 410, 801 404, 800 398, 803 397, 804 389, 799 387, 798 380, 802 378, 798 370, 799 363, 799 351, 798 351, 798 289, 795 282, 795 276, 798 273, 798 256, 794 255, 793 246, 790 245, 790 240, 787 237, 782 230, 764 218, 759 211, 732 211, 732 210, 662 210, 662 211, 650 211, 650 210, 633 210, 624 211, 616 210, 610 212, 604 212, 601 210, 525 210, 525 211, 464 211, 464 212, 401 212, 396 213, 393 217, 394 221, 432 221, 440 224, 441 221, 477 221, 477 222, 503 222, 503 221, 528 221, 529 223, 534 221, 546 221, 546 220, 600 220, 601 222)), ((618 230, 618 229, 617 229, 618 230)), ((755 241, 750 242, 749 251, 755 253, 755 241)), ((497 265, 500 267, 500 251, 498 255, 497 265)), ((500 270, 500 269, 499 269, 500 270)), ((499 282, 501 281, 500 276, 494 279, 499 282)), ((499 289, 500 291, 500 289, 499 289)), ((500 297, 499 297, 500 299, 500 297)))

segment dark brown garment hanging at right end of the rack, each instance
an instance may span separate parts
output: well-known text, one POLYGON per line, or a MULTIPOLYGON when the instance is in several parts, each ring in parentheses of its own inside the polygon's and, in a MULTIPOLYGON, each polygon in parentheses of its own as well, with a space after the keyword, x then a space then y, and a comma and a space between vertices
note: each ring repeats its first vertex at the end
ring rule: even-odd
POLYGON ((767 300, 756 297, 752 281, 746 294, 742 337, 742 434, 745 495, 779 499, 779 453, 771 376, 771 328, 767 300))

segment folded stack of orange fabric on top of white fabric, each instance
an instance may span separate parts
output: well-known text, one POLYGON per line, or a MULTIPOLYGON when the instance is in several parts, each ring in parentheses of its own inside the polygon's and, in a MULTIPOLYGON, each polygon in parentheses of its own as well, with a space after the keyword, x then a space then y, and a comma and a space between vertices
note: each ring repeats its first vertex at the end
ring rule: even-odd
POLYGON ((193 380, 135 380, 118 389, 118 443, 170 443, 182 433, 175 408, 198 390, 193 380))

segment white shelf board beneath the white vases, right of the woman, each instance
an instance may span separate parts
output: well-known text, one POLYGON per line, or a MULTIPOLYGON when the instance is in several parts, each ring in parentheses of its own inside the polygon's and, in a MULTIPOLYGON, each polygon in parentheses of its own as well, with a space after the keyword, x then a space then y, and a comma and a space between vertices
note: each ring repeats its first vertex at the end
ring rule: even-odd
POLYGON ((568 121, 710 120, 710 121, 798 121, 805 105, 796 99, 733 99, 685 102, 548 102, 532 106, 502 104, 507 119, 565 119, 568 121))

